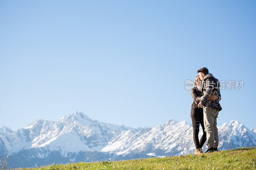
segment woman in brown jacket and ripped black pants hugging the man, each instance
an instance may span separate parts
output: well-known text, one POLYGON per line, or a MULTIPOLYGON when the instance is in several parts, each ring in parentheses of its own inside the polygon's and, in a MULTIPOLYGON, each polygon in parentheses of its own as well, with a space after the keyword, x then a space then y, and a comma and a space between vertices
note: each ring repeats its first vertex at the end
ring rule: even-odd
MULTIPOLYGON (((201 90, 202 90, 202 80, 199 78, 199 75, 195 78, 195 85, 196 87, 193 87, 191 89, 191 96, 194 99, 192 105, 191 105, 191 119, 192 119, 192 126, 193 126, 193 139, 194 143, 196 145, 195 154, 201 154, 203 153, 202 147, 206 141, 206 132, 204 131, 204 114, 203 114, 203 106, 198 108, 198 103, 201 100, 201 90), (198 138, 199 133, 199 126, 202 126, 203 129, 203 136, 201 137, 200 141, 198 138)), ((218 98, 215 95, 211 95, 208 100, 216 100, 218 98)))

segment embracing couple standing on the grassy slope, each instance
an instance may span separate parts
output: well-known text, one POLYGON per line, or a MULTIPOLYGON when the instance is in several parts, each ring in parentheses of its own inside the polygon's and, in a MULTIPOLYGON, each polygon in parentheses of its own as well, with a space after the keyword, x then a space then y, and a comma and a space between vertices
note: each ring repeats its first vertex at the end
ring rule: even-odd
POLYGON ((193 139, 196 145, 195 154, 203 153, 202 147, 206 141, 207 150, 204 152, 218 151, 219 135, 217 128, 217 117, 220 106, 220 82, 213 77, 206 67, 197 70, 195 85, 191 89, 194 99, 191 107, 191 120, 193 126, 193 139), (203 136, 198 138, 199 126, 202 126, 203 136))

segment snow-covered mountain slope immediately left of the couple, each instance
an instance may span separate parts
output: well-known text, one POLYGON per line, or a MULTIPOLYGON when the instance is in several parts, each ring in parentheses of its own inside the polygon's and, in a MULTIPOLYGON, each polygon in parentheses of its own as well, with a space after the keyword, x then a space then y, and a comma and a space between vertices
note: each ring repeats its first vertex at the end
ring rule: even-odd
MULTIPOLYGON (((179 145, 177 142, 191 135, 191 133, 181 135, 181 133, 187 129, 191 129, 191 127, 185 121, 177 122, 175 120, 169 120, 162 125, 143 129, 137 133, 133 131, 122 132, 110 141, 101 151, 116 152, 117 155, 126 155, 129 153, 148 154, 149 151, 151 151, 157 155, 163 155, 164 153, 172 152, 172 148, 179 145)), ((187 142, 187 140, 185 141, 187 142)), ((191 143, 190 141, 188 142, 191 143)), ((180 150, 181 148, 182 146, 179 146, 180 150)), ((184 150, 186 150, 186 148, 184 148, 184 150)), ((175 152, 175 154, 181 152, 182 151, 175 152)))

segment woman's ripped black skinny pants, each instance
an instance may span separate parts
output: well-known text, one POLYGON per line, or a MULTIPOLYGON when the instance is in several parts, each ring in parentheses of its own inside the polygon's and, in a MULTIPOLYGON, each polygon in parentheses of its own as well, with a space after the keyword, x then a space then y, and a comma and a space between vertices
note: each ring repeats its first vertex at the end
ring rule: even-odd
POLYGON ((204 113, 203 108, 194 108, 191 107, 191 119, 192 119, 192 126, 193 126, 193 139, 196 145, 196 149, 202 148, 205 141, 206 141, 206 132, 204 131, 204 113), (202 126, 203 129, 203 136, 201 137, 200 141, 198 139, 199 133, 199 126, 202 126))

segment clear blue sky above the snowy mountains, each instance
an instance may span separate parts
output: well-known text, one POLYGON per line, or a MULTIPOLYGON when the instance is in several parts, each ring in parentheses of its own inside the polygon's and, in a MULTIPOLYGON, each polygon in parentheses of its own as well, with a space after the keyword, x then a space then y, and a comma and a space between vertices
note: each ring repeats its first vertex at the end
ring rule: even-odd
POLYGON ((0 1, 0 127, 75 110, 125 126, 191 123, 184 82, 207 67, 218 126, 256 128, 256 1, 0 1))

